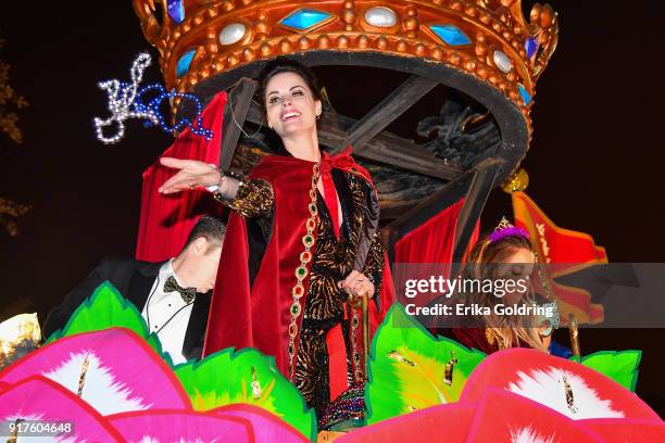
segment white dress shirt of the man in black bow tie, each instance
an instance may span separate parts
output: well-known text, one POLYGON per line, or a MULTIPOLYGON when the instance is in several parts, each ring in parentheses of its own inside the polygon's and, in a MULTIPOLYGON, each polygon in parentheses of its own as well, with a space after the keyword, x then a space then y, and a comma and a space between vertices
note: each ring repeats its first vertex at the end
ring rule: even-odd
POLYGON ((187 362, 183 356, 183 343, 193 302, 188 305, 177 291, 164 292, 164 283, 171 276, 185 288, 173 269, 173 258, 171 258, 160 268, 141 315, 148 322, 150 332, 156 332, 162 343, 162 351, 171 355, 174 364, 179 364, 187 362))

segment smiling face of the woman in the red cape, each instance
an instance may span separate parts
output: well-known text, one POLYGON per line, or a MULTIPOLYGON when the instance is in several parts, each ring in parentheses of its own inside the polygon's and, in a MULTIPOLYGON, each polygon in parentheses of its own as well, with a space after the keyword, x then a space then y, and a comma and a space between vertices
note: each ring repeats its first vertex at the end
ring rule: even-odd
POLYGON ((286 72, 268 80, 265 110, 268 124, 284 139, 314 130, 322 104, 300 75, 286 72))

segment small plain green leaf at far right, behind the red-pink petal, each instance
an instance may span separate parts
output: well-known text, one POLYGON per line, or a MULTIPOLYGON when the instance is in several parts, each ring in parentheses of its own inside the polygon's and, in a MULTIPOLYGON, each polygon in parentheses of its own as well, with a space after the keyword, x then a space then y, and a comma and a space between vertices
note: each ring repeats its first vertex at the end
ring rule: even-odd
POLYGON ((599 351, 582 357, 581 362, 576 356, 570 357, 570 359, 595 369, 635 392, 642 351, 599 351))

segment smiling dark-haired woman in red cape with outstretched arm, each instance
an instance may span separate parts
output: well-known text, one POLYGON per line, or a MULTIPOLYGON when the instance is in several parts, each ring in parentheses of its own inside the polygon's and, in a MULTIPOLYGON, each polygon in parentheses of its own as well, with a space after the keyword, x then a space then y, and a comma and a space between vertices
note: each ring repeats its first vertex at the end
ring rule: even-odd
POLYGON ((278 59, 260 84, 284 155, 264 157, 243 181, 202 162, 162 159, 180 170, 160 191, 206 186, 233 210, 204 355, 233 346, 274 356, 322 422, 340 393, 352 389, 362 398, 363 326, 349 295, 373 298, 372 332, 394 300, 376 230, 378 198, 350 149, 319 151, 321 96, 306 67, 278 59))

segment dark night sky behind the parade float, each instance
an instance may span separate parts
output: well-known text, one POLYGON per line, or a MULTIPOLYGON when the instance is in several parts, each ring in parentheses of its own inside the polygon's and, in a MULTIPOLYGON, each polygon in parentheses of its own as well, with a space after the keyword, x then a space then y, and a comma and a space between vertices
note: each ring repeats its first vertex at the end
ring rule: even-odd
MULTIPOLYGON (((92 117, 106 115, 97 81, 127 79, 135 55, 150 49, 131 2, 113 3, 3 8, 2 59, 29 107, 21 112, 25 142, 1 141, 0 195, 33 210, 20 219, 17 238, 0 232, 0 320, 15 309, 43 319, 103 255, 134 255, 141 173, 172 138, 137 122, 118 144, 95 137, 92 117)), ((531 179, 527 193, 559 226, 592 235, 611 262, 663 262, 665 3, 550 3, 561 36, 538 81, 535 137, 523 163, 531 179)), ((147 79, 158 81, 152 54, 147 79)), ((373 81, 353 78, 361 87, 373 81)), ((339 107, 344 104, 353 116, 352 104, 339 107)), ((495 190, 484 227, 502 214, 512 214, 510 198, 495 190)), ((663 416, 662 329, 582 331, 580 339, 584 353, 644 350, 638 392, 663 416)))

